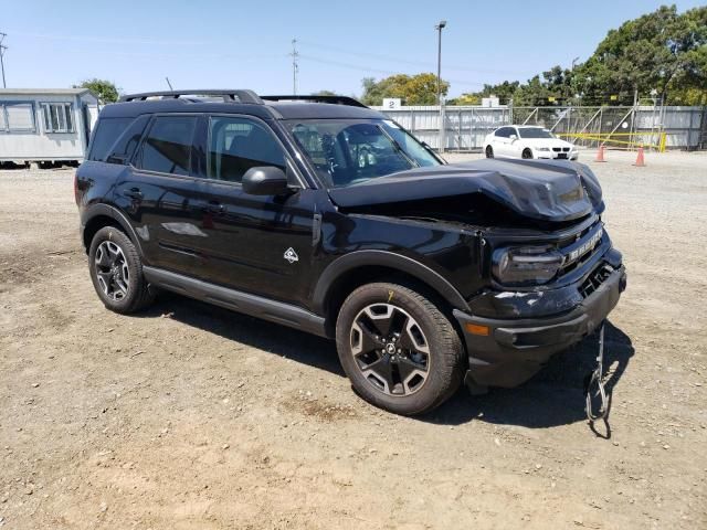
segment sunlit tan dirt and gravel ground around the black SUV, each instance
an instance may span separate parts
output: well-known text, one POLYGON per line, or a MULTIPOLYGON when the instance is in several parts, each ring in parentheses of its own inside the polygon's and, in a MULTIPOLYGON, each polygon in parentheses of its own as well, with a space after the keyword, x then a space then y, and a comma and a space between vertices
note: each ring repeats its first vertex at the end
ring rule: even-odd
POLYGON ((630 274, 599 434, 594 338, 398 417, 326 340, 170 295, 108 312, 73 172, 0 171, 0 527, 707 528, 706 155, 589 162, 630 274))

